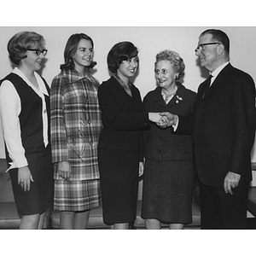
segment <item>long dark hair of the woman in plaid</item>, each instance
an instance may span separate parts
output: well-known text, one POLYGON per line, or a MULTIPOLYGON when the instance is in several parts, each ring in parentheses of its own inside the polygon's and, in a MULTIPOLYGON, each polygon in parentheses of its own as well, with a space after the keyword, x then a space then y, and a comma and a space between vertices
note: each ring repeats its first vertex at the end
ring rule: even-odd
MULTIPOLYGON (((65 63, 61 65, 61 70, 64 68, 68 68, 71 70, 74 69, 75 64, 73 62, 73 56, 76 54, 78 50, 79 42, 81 39, 89 40, 92 45, 92 48, 94 47, 93 41, 88 35, 84 33, 77 33, 71 35, 70 38, 68 38, 66 47, 64 49, 65 63)), ((92 68, 94 66, 96 66, 96 61, 91 61, 90 67, 88 68, 92 68)))

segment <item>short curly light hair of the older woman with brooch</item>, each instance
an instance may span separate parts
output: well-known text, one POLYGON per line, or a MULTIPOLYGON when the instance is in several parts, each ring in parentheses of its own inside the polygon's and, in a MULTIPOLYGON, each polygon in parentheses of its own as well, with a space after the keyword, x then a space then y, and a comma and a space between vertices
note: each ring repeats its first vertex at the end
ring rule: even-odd
POLYGON ((155 56, 155 59, 156 61, 154 63, 154 67, 159 61, 170 61, 175 72, 177 72, 178 74, 176 80, 181 79, 183 77, 185 64, 183 59, 181 58, 180 55, 177 54, 177 52, 170 49, 165 49, 160 51, 160 53, 158 53, 155 56))

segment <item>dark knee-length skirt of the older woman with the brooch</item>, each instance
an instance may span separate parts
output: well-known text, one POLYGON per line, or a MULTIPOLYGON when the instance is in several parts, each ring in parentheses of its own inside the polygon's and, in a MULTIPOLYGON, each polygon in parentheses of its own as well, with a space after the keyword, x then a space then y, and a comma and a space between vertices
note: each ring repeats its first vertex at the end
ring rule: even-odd
POLYGON ((192 222, 194 169, 192 160, 146 160, 143 175, 142 218, 162 223, 192 222))

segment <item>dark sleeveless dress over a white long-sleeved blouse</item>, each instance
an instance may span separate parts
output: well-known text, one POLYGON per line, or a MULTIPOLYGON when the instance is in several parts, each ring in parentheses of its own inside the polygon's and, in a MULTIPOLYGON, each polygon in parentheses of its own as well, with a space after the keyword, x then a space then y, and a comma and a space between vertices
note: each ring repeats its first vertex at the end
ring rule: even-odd
MULTIPOLYGON (((14 84, 20 96, 22 106, 19 115, 20 136, 22 146, 25 148, 28 167, 34 180, 31 183, 31 189, 25 192, 18 184, 18 168, 9 170, 17 211, 19 215, 43 213, 53 206, 53 166, 50 145, 44 147, 42 136, 42 100, 17 74, 11 73, 5 79, 14 84)), ((45 81, 44 84, 49 91, 49 86, 45 81)), ((49 96, 44 95, 44 97, 49 116, 49 96)), ((8 153, 6 158, 8 162, 12 161, 8 153)))

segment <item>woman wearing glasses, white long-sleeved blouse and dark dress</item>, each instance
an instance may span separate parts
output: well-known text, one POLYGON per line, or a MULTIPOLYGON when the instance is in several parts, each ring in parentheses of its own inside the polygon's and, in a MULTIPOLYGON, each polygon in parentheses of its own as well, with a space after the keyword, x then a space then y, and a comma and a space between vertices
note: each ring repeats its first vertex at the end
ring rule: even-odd
POLYGON ((3 138, 20 229, 42 229, 45 211, 53 205, 49 86, 37 73, 47 52, 44 44, 36 32, 10 38, 9 57, 16 67, 0 86, 3 138))

